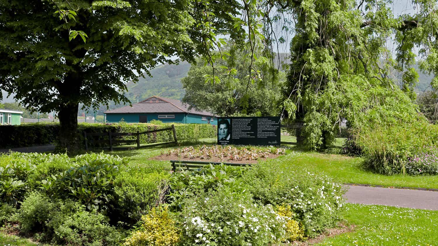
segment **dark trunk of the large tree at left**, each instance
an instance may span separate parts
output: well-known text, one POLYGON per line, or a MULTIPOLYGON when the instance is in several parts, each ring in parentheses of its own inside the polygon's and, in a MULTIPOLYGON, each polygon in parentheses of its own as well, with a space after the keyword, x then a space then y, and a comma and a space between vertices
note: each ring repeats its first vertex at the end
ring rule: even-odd
POLYGON ((68 103, 60 106, 58 112, 60 131, 56 152, 65 152, 67 150, 68 153, 75 153, 81 149, 77 133, 78 107, 78 103, 68 103))

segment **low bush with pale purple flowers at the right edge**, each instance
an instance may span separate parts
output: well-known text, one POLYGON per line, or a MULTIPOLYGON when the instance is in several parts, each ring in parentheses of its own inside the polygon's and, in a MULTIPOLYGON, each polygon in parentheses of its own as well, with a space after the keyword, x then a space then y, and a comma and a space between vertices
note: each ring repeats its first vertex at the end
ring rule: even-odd
POLYGON ((425 152, 409 157, 405 168, 411 175, 438 174, 438 149, 429 147, 425 152))

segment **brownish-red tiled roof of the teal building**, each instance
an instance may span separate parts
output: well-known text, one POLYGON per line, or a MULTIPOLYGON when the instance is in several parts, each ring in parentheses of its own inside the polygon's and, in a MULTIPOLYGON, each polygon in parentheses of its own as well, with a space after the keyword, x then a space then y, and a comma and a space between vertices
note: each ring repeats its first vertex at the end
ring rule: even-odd
POLYGON ((188 107, 179 100, 170 99, 166 97, 153 96, 131 106, 116 108, 110 111, 105 111, 105 114, 148 114, 148 113, 190 113, 200 114, 205 116, 214 116, 207 111, 188 110, 188 107), (156 98, 164 102, 149 103, 148 100, 156 98))

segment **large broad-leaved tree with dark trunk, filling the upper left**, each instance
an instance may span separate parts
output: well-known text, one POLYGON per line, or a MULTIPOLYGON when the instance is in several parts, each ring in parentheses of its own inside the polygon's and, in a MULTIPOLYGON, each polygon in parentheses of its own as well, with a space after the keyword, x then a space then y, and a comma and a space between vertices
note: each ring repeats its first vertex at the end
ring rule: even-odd
POLYGON ((194 61, 210 49, 208 28, 233 28, 239 3, 208 6, 206 19, 205 3, 189 0, 1 0, 0 88, 57 111, 57 148, 74 151, 79 104, 129 103, 126 81, 172 55, 194 61))

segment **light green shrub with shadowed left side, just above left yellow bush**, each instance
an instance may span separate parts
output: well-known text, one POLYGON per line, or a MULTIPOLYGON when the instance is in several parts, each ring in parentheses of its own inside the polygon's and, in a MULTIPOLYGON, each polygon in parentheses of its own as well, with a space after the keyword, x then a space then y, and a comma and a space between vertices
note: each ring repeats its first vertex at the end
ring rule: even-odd
POLYGON ((134 223, 150 208, 162 204, 169 177, 169 172, 138 166, 120 171, 113 184, 111 219, 134 223))

